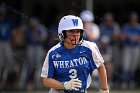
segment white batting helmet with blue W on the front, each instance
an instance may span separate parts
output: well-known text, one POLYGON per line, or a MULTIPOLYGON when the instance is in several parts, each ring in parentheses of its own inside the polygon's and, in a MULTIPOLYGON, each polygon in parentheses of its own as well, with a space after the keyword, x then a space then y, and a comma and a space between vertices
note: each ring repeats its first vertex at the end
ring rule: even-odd
POLYGON ((58 26, 59 39, 63 41, 65 37, 63 31, 72 29, 80 29, 83 32, 84 28, 82 20, 78 16, 74 15, 62 17, 58 26))

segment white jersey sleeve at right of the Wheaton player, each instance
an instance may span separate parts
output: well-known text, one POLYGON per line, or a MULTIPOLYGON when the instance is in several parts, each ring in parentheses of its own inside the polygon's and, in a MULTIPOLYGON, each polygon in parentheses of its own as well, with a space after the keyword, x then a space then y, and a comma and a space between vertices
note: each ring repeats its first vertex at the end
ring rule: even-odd
POLYGON ((92 58, 94 60, 94 63, 96 67, 98 68, 101 64, 104 63, 103 57, 95 43, 91 44, 91 51, 92 51, 92 58))

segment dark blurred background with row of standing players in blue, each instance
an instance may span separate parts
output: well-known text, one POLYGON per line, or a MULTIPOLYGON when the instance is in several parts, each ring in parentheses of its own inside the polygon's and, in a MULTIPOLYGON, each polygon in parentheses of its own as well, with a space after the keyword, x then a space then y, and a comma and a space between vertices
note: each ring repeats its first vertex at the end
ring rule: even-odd
MULTIPOLYGON (((83 10, 100 28, 111 93, 140 93, 140 0, 0 0, 0 92, 47 93, 40 72, 58 22, 83 10)), ((99 89, 94 73, 89 91, 99 89)))

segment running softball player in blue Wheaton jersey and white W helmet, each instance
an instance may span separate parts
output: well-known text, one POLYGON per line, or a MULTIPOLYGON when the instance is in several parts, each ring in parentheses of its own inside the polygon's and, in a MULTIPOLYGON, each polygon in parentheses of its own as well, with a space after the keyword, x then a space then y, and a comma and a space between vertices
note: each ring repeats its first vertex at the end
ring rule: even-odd
POLYGON ((87 93, 94 69, 98 70, 101 93, 109 93, 104 60, 95 43, 82 39, 82 20, 64 16, 58 27, 60 43, 46 56, 41 77, 49 93, 87 93))

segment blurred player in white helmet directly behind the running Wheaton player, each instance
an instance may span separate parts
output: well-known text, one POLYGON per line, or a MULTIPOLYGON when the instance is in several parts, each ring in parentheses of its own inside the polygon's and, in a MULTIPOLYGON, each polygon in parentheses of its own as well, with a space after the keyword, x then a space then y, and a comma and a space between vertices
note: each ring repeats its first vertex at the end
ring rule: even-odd
POLYGON ((100 37, 100 30, 97 24, 94 23, 94 15, 89 10, 84 10, 80 13, 80 18, 84 24, 84 39, 97 42, 100 37))

